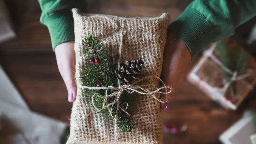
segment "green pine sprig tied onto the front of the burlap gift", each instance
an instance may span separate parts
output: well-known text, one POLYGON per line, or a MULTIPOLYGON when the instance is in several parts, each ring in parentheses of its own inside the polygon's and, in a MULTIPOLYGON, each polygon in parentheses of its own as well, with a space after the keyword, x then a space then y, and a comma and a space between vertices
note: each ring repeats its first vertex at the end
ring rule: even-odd
MULTIPOLYGON (((88 35, 87 38, 84 39, 84 50, 83 54, 88 57, 86 62, 86 68, 82 69, 82 76, 80 77, 80 83, 83 86, 95 87, 97 84, 100 84, 102 87, 108 86, 118 86, 118 81, 116 78, 115 70, 117 65, 110 62, 108 60, 109 55, 108 52, 103 48, 103 44, 101 40, 97 41, 97 36, 88 35), (98 59, 99 64, 90 63, 89 59, 98 59)), ((92 89, 84 89, 83 93, 88 101, 88 103, 92 104, 92 96, 97 93, 101 96, 105 96, 106 90, 92 90, 92 89)), ((108 90, 107 95, 113 93, 114 90, 108 90)), ((113 102, 115 97, 108 98, 107 102, 113 102)), ((123 92, 120 98, 120 106, 122 109, 125 109, 130 115, 134 111, 136 104, 136 97, 132 96, 128 92, 123 92), (129 105, 127 107, 127 105, 129 105), (127 107, 127 109, 126 109, 127 107)), ((94 104, 98 109, 101 109, 103 106, 104 98, 94 97, 94 104)), ((118 108, 119 109, 119 108, 118 108)), ((116 114, 117 104, 113 105, 112 115, 116 114)), ((108 109, 104 109, 99 111, 99 113, 111 117, 108 109)), ((118 114, 118 127, 120 129, 120 133, 128 133, 131 132, 133 128, 133 121, 130 117, 127 116, 125 112, 119 109, 118 114)))

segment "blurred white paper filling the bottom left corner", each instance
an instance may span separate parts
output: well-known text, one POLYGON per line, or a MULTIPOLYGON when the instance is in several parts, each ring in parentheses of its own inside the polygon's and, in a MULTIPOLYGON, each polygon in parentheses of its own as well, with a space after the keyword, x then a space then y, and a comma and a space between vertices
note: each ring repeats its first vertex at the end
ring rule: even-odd
MULTIPOLYGON (((61 135, 66 128, 66 124, 63 122, 19 109, 8 103, 0 102, 0 111, 4 118, 2 130, 5 130, 5 134, 10 133, 9 136, 23 134, 24 139, 30 144, 59 144, 61 135)), ((0 135, 2 136, 0 140, 6 138, 6 135, 0 135)))

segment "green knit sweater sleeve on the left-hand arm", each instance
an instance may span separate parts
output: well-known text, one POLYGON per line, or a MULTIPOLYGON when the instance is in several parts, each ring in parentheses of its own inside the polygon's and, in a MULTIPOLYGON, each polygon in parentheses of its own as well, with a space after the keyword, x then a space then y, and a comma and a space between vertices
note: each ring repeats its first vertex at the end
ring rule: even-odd
POLYGON ((86 0, 39 0, 40 22, 47 26, 53 50, 63 42, 74 40, 72 8, 86 12, 86 0))

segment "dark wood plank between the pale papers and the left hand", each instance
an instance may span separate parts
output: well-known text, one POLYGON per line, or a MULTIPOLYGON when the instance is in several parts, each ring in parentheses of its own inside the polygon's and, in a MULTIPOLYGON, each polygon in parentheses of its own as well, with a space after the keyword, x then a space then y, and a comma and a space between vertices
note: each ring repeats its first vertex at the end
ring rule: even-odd
POLYGON ((33 111, 68 121, 72 104, 54 54, 4 54, 0 63, 33 111))

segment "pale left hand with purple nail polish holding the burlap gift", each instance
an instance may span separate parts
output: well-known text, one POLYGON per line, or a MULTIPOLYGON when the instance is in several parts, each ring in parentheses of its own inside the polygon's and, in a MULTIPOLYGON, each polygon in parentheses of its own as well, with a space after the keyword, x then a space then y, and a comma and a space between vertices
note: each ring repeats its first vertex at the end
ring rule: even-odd
POLYGON ((60 75, 68 90, 68 101, 74 102, 76 97, 74 41, 57 45, 55 55, 60 75))

